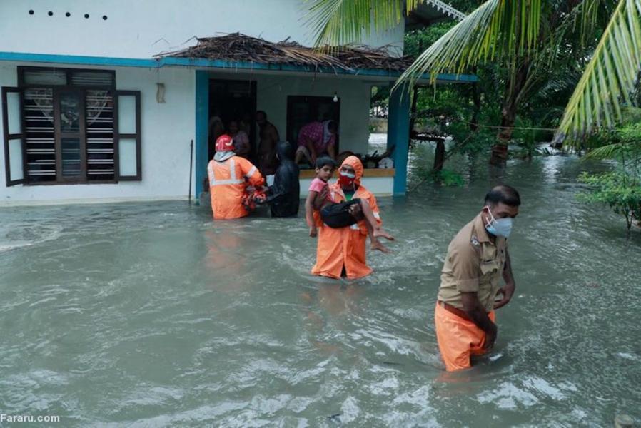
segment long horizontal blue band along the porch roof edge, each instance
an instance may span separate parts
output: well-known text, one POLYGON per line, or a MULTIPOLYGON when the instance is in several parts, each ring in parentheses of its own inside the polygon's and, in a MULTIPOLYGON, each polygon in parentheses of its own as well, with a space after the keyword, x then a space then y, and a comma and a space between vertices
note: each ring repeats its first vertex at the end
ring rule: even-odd
MULTIPOLYGON (((202 68, 226 68, 233 70, 256 70, 256 71, 294 71, 304 73, 320 73, 343 76, 377 76, 396 79, 400 76, 400 71, 379 70, 373 68, 363 68, 359 70, 341 70, 328 67, 311 67, 311 66, 294 66, 291 64, 263 64, 246 61, 221 61, 210 60, 206 58, 159 58, 159 59, 141 59, 141 58, 112 58, 103 56, 76 56, 76 55, 56 55, 56 54, 29 54, 22 52, 0 52, 0 61, 25 61, 25 62, 42 62, 42 63, 60 63, 76 64, 85 66, 112 66, 112 67, 142 67, 142 68, 161 68, 164 66, 184 66, 184 67, 202 67, 202 68)), ((430 78, 428 73, 423 78, 430 78)), ((446 74, 438 75, 440 81, 460 81, 475 82, 478 78, 469 74, 446 74)))

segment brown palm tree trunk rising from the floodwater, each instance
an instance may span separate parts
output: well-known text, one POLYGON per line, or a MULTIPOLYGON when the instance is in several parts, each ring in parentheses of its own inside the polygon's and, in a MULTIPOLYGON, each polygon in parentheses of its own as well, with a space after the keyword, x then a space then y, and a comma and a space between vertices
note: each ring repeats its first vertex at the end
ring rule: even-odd
POLYGON ((501 124, 496 134, 496 143, 492 147, 492 156, 490 156, 491 165, 505 166, 505 162, 508 161, 508 143, 514 132, 516 113, 521 91, 528 80, 528 70, 529 61, 524 61, 506 85, 506 95, 501 107, 501 124))

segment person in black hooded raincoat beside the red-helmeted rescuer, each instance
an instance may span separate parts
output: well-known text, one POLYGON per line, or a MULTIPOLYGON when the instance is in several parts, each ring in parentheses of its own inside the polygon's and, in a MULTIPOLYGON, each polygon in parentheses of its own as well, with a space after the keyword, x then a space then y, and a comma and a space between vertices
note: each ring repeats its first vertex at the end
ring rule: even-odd
POLYGON ((267 203, 272 217, 291 217, 298 214, 301 203, 301 185, 298 182, 298 165, 292 161, 292 148, 288 141, 276 146, 278 168, 274 183, 267 191, 267 203))

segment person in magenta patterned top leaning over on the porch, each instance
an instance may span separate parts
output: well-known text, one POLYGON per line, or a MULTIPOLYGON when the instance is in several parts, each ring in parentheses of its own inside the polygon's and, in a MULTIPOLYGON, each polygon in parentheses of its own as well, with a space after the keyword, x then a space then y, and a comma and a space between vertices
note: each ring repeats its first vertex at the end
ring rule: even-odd
POLYGON ((338 123, 335 121, 311 122, 298 131, 298 148, 294 162, 306 161, 316 165, 316 158, 328 155, 336 159, 336 136, 338 123))

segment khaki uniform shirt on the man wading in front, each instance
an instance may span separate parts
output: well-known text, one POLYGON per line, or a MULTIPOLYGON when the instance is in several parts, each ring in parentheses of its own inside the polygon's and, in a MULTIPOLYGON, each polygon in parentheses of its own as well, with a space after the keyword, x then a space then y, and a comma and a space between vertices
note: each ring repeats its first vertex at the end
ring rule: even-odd
POLYGON ((495 239, 490 241, 480 214, 458 232, 448 247, 438 300, 463 309, 460 293, 477 292, 485 310, 493 310, 508 249, 505 238, 495 239))

